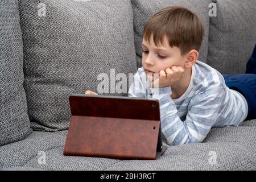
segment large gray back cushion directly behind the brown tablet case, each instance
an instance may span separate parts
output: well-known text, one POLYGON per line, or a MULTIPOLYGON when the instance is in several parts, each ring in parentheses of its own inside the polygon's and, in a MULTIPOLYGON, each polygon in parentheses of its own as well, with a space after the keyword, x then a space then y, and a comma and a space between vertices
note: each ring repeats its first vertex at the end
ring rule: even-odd
MULTIPOLYGON (((19 8, 24 88, 34 130, 68 129, 68 96, 97 92, 101 73, 113 89, 111 83, 119 80, 110 78, 110 69, 114 76, 137 71, 129 0, 23 0, 19 8)), ((109 88, 104 94, 127 95, 109 88)))

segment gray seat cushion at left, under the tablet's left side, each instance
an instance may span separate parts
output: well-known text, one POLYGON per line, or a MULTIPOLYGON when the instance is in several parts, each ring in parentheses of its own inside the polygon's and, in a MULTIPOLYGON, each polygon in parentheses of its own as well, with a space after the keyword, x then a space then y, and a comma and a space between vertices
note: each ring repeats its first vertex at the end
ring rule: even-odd
POLYGON ((64 156, 67 132, 34 131, 22 141, 0 147, 0 169, 103 170, 120 161, 109 158, 64 156), (43 155, 45 160, 41 160, 43 155))

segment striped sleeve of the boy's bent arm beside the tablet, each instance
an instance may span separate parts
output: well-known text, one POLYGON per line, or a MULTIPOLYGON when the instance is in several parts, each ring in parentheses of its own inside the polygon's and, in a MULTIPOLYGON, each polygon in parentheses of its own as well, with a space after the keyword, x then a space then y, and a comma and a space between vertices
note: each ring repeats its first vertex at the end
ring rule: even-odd
POLYGON ((153 98, 160 103, 162 132, 168 144, 199 143, 209 133, 210 128, 218 118, 218 111, 224 98, 224 86, 213 84, 204 92, 197 93, 188 104, 188 113, 185 121, 177 115, 177 109, 171 98, 171 87, 151 88, 153 98))

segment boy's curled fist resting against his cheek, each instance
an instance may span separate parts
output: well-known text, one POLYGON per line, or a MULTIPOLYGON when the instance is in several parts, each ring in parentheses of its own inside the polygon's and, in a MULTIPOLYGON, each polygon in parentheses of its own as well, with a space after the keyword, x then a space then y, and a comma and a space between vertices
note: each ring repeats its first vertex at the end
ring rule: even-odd
POLYGON ((162 88, 165 86, 172 86, 175 82, 179 81, 184 75, 184 69, 180 66, 173 66, 167 68, 165 71, 159 72, 159 77, 152 79, 152 88, 162 88))

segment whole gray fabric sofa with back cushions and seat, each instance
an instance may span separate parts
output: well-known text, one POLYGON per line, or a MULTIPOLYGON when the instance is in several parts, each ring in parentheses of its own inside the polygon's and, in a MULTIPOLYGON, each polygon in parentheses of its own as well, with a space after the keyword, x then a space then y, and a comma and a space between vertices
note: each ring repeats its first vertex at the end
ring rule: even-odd
MULTIPOLYGON (((255 170, 256 119, 213 128, 203 143, 168 146, 157 160, 63 155, 68 96, 97 92, 99 73, 135 73, 146 20, 170 5, 203 20, 199 60, 222 74, 245 73, 256 43, 255 0, 1 0, 0 169, 255 170)), ((127 96, 112 89, 108 95, 127 96)))

